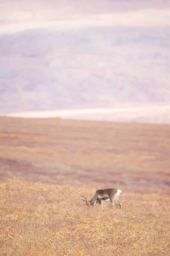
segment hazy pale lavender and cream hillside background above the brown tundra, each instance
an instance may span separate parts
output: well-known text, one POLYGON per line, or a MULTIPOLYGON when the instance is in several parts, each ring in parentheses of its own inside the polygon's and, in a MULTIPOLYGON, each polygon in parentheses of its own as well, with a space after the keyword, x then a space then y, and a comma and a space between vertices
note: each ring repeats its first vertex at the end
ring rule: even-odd
POLYGON ((0 114, 170 123, 169 72, 168 1, 0 0, 0 114))

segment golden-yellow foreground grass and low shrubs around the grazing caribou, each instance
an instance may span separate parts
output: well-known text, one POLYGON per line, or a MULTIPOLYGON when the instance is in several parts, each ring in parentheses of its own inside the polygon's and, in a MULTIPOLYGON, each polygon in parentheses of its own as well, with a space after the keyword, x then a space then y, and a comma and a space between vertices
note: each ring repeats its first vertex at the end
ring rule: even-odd
POLYGON ((0 184, 0 255, 168 256, 170 198, 123 192, 123 210, 86 207, 92 188, 0 184))

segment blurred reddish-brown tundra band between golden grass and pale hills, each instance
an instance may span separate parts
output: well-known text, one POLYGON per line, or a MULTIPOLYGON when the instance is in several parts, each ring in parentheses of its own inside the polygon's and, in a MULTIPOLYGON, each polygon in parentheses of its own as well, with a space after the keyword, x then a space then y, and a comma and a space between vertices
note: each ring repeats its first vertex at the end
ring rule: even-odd
POLYGON ((0 118, 1 180, 170 191, 170 126, 0 118))

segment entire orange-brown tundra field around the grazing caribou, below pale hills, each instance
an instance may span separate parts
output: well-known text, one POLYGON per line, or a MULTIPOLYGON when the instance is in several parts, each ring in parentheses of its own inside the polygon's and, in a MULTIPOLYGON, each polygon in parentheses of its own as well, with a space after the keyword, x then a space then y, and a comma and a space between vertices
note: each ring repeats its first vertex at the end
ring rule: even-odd
POLYGON ((0 255, 170 255, 169 156, 170 125, 0 117, 0 255))

